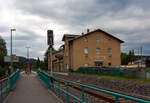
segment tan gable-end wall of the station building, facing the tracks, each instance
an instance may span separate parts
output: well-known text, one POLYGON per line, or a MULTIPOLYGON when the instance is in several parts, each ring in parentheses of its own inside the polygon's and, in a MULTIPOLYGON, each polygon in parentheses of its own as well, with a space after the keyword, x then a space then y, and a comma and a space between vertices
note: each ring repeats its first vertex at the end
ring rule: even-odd
POLYGON ((88 63, 89 67, 95 66, 95 61, 104 62, 103 66, 120 65, 120 42, 102 32, 94 32, 91 35, 85 35, 88 42, 81 37, 73 41, 73 69, 78 69, 88 63), (100 41, 96 42, 96 37, 100 37, 100 41), (108 39, 111 40, 108 43, 108 39), (84 48, 88 47, 88 55, 85 55, 84 48), (100 48, 100 54, 96 53, 96 48, 100 48), (112 49, 112 54, 108 55, 108 48, 112 49))

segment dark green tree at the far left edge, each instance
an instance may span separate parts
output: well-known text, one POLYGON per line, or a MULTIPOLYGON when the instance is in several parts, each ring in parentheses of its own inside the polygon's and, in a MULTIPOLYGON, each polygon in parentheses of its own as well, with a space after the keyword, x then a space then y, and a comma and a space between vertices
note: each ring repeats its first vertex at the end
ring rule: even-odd
POLYGON ((5 40, 0 36, 0 66, 4 67, 4 56, 7 55, 7 48, 5 40))

